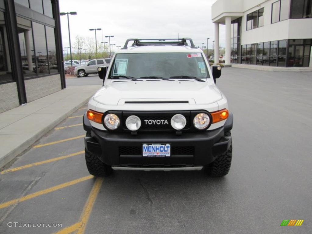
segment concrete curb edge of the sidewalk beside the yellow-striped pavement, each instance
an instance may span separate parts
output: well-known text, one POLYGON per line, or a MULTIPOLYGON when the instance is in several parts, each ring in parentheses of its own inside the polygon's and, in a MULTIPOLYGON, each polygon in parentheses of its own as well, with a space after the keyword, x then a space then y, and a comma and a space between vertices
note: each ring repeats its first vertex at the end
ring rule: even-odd
MULTIPOLYGON (((92 95, 90 95, 92 97, 92 95)), ((35 134, 30 139, 24 141, 22 144, 17 145, 15 149, 13 149, 11 152, 4 155, 2 158, 0 158, 0 168, 5 167, 8 163, 10 163, 14 158, 16 158, 18 155, 23 153, 25 150, 27 150, 32 144, 34 144, 37 140, 39 140, 42 136, 44 136, 46 133, 48 133, 50 130, 52 130, 57 124, 61 123, 65 118, 70 116, 72 113, 74 113, 80 106, 84 105, 88 102, 90 97, 86 98, 82 102, 80 102, 78 105, 73 107, 71 110, 64 113, 61 117, 57 118, 53 122, 51 122, 48 126, 46 126, 44 129, 41 129, 37 134, 35 134)))

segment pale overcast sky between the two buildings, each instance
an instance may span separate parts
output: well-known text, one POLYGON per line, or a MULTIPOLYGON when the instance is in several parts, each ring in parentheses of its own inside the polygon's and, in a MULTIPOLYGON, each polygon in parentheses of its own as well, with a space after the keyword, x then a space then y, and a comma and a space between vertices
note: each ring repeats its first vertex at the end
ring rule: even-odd
MULTIPOLYGON (((108 41, 105 35, 114 35, 111 44, 123 46, 127 38, 191 37, 196 46, 212 48, 214 25, 211 6, 216 0, 59 0, 60 12, 76 11, 70 15, 72 46, 77 35, 93 37, 90 28, 97 31, 98 41, 108 41)), ((61 16, 63 47, 69 46, 67 17, 61 16)), ((220 46, 225 45, 225 26, 220 25, 220 46)), ((115 48, 115 46, 114 46, 115 48)))

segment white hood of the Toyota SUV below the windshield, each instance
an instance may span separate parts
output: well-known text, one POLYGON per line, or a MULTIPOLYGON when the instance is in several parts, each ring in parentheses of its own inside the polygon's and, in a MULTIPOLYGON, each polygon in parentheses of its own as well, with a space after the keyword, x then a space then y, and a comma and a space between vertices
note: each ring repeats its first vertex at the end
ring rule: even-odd
POLYGON ((125 100, 190 100, 196 105, 205 105, 222 99, 215 85, 193 80, 174 81, 119 81, 98 90, 93 100, 104 105, 121 105, 125 100))

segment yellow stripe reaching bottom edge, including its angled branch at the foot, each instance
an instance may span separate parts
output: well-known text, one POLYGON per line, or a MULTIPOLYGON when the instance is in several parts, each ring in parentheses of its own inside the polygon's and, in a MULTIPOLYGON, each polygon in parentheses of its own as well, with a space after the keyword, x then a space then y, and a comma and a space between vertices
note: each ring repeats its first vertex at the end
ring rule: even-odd
POLYGON ((88 200, 85 202, 85 206, 80 215, 79 222, 69 227, 65 227, 61 229, 60 231, 56 232, 55 234, 69 234, 75 231, 77 231, 77 234, 85 233, 85 227, 87 226, 87 223, 89 221, 89 217, 90 217, 93 205, 95 203, 96 197, 100 192, 102 182, 103 182, 103 178, 100 178, 100 177, 96 178, 93 188, 91 189, 91 192, 89 194, 88 200))

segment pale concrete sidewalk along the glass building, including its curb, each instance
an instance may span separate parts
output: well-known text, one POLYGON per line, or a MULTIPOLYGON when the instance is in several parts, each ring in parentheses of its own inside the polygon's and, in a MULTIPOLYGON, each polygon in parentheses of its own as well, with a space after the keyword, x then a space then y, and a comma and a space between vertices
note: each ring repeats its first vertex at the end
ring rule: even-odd
POLYGON ((71 115, 100 88, 100 85, 70 86, 1 113, 0 168, 71 115))

